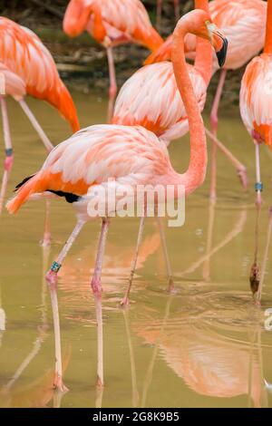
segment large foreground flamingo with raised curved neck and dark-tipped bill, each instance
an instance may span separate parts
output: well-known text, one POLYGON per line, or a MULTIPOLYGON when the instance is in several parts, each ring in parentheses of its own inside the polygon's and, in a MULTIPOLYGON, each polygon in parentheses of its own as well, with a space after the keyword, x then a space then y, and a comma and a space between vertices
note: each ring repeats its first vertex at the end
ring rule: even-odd
MULTIPOLYGON (((172 168, 165 144, 151 131, 141 126, 94 125, 78 131, 71 138, 57 145, 45 160, 42 169, 32 177, 24 179, 17 186, 15 197, 7 203, 7 210, 12 214, 29 198, 47 196, 49 192, 66 198, 76 209, 76 226, 46 276, 52 299, 54 331, 57 335, 60 335, 56 292, 57 273, 83 225, 91 219, 87 211, 90 200, 105 202, 105 199, 100 199, 99 196, 103 189, 112 193, 113 196, 118 187, 126 189, 126 193, 132 189, 136 194, 139 185, 146 184, 151 187, 161 184, 164 188, 171 185, 176 191, 181 185, 185 189, 185 195, 189 196, 205 179, 207 170, 205 130, 184 55, 184 36, 188 33, 210 40, 219 57, 222 58, 222 62, 227 44, 217 27, 211 24, 209 14, 202 10, 190 12, 177 24, 172 61, 180 95, 188 113, 190 129, 190 160, 189 168, 185 173, 179 174, 172 168)), ((109 225, 109 217, 102 218, 102 230, 91 284, 98 324, 98 387, 103 386, 101 276, 109 225)), ((62 391, 64 386, 59 345, 56 345, 55 352, 58 371, 54 386, 62 391)))

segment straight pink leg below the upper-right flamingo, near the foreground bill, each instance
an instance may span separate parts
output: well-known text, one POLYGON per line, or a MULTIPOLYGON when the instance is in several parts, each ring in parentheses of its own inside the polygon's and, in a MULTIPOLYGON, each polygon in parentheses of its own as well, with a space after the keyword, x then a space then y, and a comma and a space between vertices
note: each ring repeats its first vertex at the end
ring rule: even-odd
MULTIPOLYGON (((217 136, 218 125, 219 125, 219 103, 223 92, 224 83, 226 80, 227 70, 223 69, 219 78, 218 89, 212 104, 210 113, 210 127, 214 136, 217 136)), ((217 145, 213 142, 211 148, 211 177, 210 177, 210 189, 209 197, 216 198, 216 186, 217 186, 217 145)))

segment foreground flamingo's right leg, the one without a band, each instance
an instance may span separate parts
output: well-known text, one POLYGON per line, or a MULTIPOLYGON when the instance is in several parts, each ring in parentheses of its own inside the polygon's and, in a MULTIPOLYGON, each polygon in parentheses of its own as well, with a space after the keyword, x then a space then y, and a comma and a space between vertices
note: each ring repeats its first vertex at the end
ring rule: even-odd
POLYGON ((108 218, 102 219, 102 230, 99 238, 97 256, 95 261, 95 268, 92 276, 92 293, 94 296, 95 302, 95 312, 96 312, 96 321, 97 321, 97 354, 98 354, 98 363, 97 363, 97 381, 96 386, 102 388, 104 384, 103 379, 103 328, 102 328, 102 285, 101 285, 101 276, 102 276, 102 260, 105 251, 105 244, 107 239, 107 234, 109 230, 110 221, 108 218))

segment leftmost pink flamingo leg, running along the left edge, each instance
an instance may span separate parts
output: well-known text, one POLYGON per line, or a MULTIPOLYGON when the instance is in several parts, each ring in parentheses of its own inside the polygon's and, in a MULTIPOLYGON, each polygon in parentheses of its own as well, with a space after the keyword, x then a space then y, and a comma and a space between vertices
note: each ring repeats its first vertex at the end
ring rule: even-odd
POLYGON ((10 127, 8 122, 8 114, 6 101, 3 96, 0 96, 1 111, 2 111, 2 121, 3 121, 3 131, 4 131, 4 140, 5 140, 5 164, 4 164, 4 174, 2 178, 1 190, 0 190, 0 214, 2 213, 5 193, 8 183, 8 178, 13 167, 14 156, 13 156, 13 147, 10 134, 10 127))

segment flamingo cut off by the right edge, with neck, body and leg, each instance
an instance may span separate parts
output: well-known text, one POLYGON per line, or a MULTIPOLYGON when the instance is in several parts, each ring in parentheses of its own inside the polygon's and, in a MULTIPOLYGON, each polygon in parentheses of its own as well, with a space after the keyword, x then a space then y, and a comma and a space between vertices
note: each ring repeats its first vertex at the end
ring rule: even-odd
MULTIPOLYGON (((263 184, 261 181, 259 146, 265 143, 272 148, 272 2, 268 0, 267 8, 267 33, 264 52, 255 57, 250 63, 243 76, 240 91, 240 113, 242 120, 248 129, 248 133, 254 140, 256 155, 256 184, 257 193, 257 224, 256 235, 261 208, 261 192, 263 184)), ((271 216, 271 213, 270 213, 271 216)), ((262 283, 259 286, 257 266, 257 240, 255 259, 251 268, 250 282, 253 294, 257 293, 257 303, 261 301, 262 283)))

